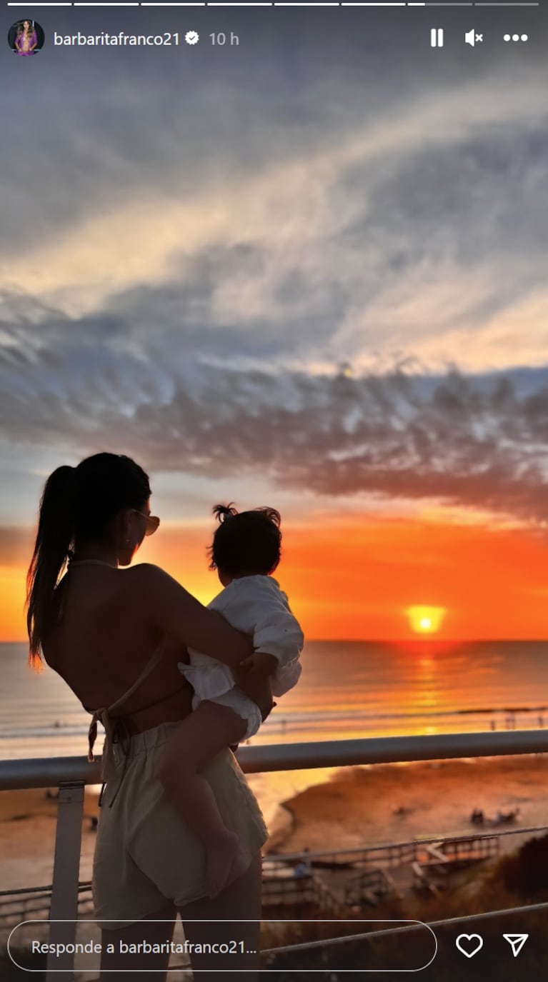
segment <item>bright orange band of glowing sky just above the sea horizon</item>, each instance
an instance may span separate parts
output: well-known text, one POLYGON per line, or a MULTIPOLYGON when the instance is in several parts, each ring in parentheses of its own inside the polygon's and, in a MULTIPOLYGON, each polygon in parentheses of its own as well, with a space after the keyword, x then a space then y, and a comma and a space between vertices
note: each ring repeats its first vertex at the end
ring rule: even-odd
MULTIPOLYGON (((145 540, 137 562, 162 566, 207 603, 221 588, 207 569, 212 530, 207 519, 163 523, 145 540)), ((443 643, 548 635, 548 540, 542 535, 453 517, 444 524, 439 515, 429 521, 312 514, 282 520, 282 531, 275 576, 309 639, 411 641, 435 634, 443 643), (410 598, 417 602, 410 606, 410 598), (421 601, 414 629, 410 611, 421 601)), ((2 640, 25 639, 25 575, 21 555, 12 565, 7 557, 0 568, 2 640)))

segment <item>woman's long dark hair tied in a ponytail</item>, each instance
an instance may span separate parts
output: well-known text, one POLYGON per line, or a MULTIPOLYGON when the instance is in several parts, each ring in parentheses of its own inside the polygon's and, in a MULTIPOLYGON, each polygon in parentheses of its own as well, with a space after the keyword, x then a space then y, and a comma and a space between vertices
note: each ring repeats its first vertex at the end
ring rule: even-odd
POLYGON ((77 467, 57 467, 49 475, 27 573, 28 658, 34 668, 41 662, 53 593, 71 552, 102 539, 122 509, 139 511, 149 497, 144 470, 117 454, 95 454, 77 467))

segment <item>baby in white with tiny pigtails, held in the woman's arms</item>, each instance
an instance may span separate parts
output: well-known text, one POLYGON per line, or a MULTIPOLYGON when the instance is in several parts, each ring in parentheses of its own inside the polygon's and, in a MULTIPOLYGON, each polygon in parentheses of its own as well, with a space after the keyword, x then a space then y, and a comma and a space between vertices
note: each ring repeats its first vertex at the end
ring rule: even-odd
MULTIPOLYGON (((213 515, 219 526, 209 569, 217 571, 224 589, 209 609, 251 634, 254 652, 243 666, 252 678, 270 678, 273 694, 283 695, 301 676, 303 637, 286 594, 272 577, 280 562, 280 514, 273 508, 238 513, 230 505, 216 505, 213 515)), ((205 848, 207 890, 214 897, 225 885, 239 842, 200 771, 223 747, 256 734, 262 721, 258 706, 235 685, 226 665, 194 648, 189 655, 191 664, 179 668, 192 684, 194 711, 167 744, 158 776, 205 848)))

